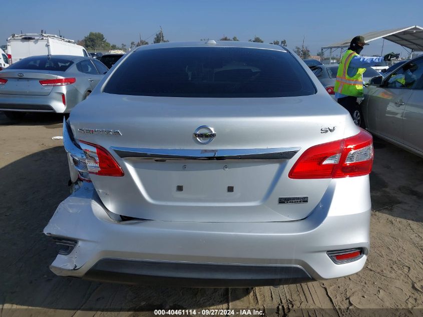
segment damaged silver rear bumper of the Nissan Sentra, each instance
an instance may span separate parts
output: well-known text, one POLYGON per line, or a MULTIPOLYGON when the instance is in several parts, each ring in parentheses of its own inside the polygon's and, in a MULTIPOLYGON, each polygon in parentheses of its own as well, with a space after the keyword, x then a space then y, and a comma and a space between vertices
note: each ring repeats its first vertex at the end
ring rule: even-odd
MULTIPOLYGON (((122 221, 91 183, 64 200, 44 233, 77 241, 51 264, 57 275, 124 283, 245 287, 336 278, 361 270, 369 249, 369 209, 348 215, 332 197, 299 221, 262 223, 122 221), (356 225, 353 225, 356 224, 356 225), (335 264, 327 251, 362 248, 335 264)), ((342 202, 343 203, 343 202, 342 202)), ((370 206, 369 206, 370 207, 370 206)))

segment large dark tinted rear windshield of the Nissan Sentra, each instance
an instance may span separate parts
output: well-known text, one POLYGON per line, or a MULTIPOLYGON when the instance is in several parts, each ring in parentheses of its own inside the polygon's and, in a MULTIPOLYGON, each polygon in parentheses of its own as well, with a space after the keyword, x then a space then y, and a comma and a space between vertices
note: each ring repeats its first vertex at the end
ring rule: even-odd
POLYGON ((290 53, 197 47, 135 51, 116 69, 104 92, 161 97, 263 98, 306 96, 316 91, 290 53))

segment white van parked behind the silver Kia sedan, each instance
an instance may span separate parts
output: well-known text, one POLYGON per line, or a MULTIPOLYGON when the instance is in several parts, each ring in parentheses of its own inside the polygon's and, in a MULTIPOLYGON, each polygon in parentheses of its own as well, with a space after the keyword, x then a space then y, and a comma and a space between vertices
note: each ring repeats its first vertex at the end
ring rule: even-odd
POLYGON ((19 34, 8 39, 8 57, 11 64, 35 55, 90 56, 75 41, 52 34, 19 34))

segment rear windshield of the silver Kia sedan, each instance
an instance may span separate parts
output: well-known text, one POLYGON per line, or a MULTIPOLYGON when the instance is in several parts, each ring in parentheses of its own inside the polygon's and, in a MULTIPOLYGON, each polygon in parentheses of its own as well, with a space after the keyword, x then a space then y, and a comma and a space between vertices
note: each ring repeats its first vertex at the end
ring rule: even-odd
POLYGON ((66 71, 74 62, 48 56, 27 57, 9 66, 9 69, 32 69, 40 71, 66 71))

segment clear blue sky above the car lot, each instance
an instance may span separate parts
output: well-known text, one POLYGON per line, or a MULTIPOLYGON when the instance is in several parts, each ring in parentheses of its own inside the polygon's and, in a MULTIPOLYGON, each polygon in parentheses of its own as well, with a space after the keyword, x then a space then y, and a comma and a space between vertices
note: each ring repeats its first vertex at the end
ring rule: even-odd
MULTIPOLYGON (((111 44, 130 46, 141 38, 152 43, 162 27, 171 42, 219 40, 223 35, 240 41, 260 37, 264 42, 286 40, 288 48, 304 45, 311 55, 322 46, 356 35, 419 25, 423 27, 421 0, 404 3, 378 1, 56 1, 11 2, 0 18, 0 45, 12 33, 59 34, 82 40, 101 32, 111 44), (35 5, 37 3, 37 5, 35 5), (406 9, 406 10, 404 10, 406 9)), ((408 53, 388 41, 376 40, 361 55, 408 53)), ((335 53, 339 55, 339 50, 335 53)), ((328 52, 327 52, 328 55, 328 52)))

